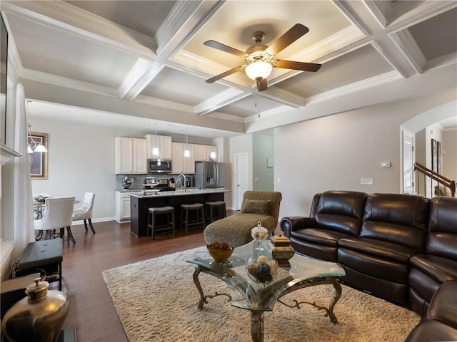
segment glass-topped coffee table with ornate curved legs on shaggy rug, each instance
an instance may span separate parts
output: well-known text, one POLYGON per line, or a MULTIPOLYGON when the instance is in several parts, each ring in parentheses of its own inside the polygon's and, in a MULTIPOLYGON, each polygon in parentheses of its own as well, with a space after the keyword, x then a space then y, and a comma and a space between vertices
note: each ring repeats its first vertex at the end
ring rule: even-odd
POLYGON ((219 263, 214 261, 208 252, 195 252, 191 259, 186 260, 196 265, 194 271, 194 283, 200 294, 199 309, 203 309, 204 304, 208 304, 207 299, 216 296, 227 296, 232 306, 251 311, 251 336, 254 342, 263 342, 263 312, 272 311, 276 301, 290 308, 300 308, 301 304, 310 304, 316 308, 326 311, 326 315, 332 323, 337 323, 336 316, 333 314, 333 307, 341 296, 341 285, 338 276, 344 276, 344 269, 333 262, 321 261, 303 257, 295 254, 290 259, 291 266, 279 267, 275 279, 269 283, 258 284, 253 281, 246 271, 246 261, 250 257, 257 258, 265 255, 271 259, 271 242, 263 242, 264 250, 258 252, 254 250, 253 242, 236 247, 228 261, 219 263), (199 274, 211 274, 223 280, 230 289, 230 294, 204 294, 201 287, 199 274), (308 286, 332 284, 334 288, 333 296, 328 308, 318 306, 310 301, 286 304, 280 298, 298 289, 308 286))

